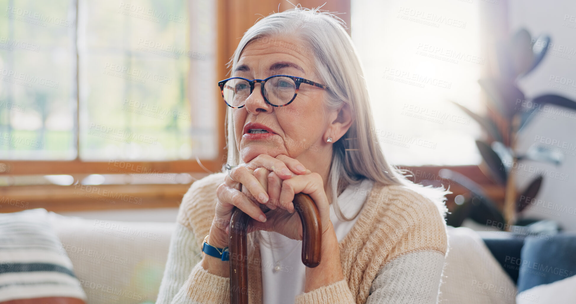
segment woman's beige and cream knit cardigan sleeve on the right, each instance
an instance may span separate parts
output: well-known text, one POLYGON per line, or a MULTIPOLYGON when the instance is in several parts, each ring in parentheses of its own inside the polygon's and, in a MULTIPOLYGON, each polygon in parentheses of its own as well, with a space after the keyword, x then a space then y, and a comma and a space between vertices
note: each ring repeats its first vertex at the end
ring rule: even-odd
POLYGON ((445 206, 414 191, 399 191, 394 197, 395 207, 405 211, 398 209, 392 217, 401 227, 394 231, 400 237, 391 244, 393 250, 373 280, 366 304, 437 303, 448 250, 445 206))

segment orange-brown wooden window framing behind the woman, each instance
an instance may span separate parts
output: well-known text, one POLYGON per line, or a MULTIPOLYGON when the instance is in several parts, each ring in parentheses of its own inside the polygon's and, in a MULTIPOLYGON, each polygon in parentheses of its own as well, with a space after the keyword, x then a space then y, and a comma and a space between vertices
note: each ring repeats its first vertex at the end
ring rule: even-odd
MULTIPOLYGON (((350 25, 350 1, 334 0, 324 5, 325 0, 304 0, 300 3, 303 7, 322 7, 330 12, 340 12, 338 16, 346 24, 350 25)), ((289 9, 290 3, 278 0, 218 0, 217 2, 217 48, 216 67, 218 79, 228 77, 228 63, 230 56, 238 44, 238 37, 251 27, 258 18, 267 16, 271 12, 278 12, 289 9), (261 14, 261 15, 260 15, 261 14), (253 17, 250 17, 253 16, 253 17)), ((217 90, 215 90, 217 91, 217 90)), ((221 95, 215 92, 214 100, 220 100, 221 95)), ((79 100, 79 99, 77 99, 79 100)), ((166 173, 190 173, 194 179, 202 178, 210 172, 221 171, 222 165, 226 162, 224 123, 226 105, 223 102, 217 103, 217 134, 218 135, 218 155, 214 159, 177 160, 166 162, 147 161, 122 161, 123 166, 138 168, 141 172, 166 172, 166 173)), ((50 161, 50 160, 0 160, 0 175, 51 175, 51 174, 113 174, 110 170, 109 162, 85 162, 77 158, 70 161, 50 161)), ((438 174, 441 168, 461 172, 478 182, 488 193, 498 197, 503 190, 498 189, 479 170, 478 166, 418 166, 407 167, 412 171, 420 170, 426 174, 438 174)), ((418 181, 416 181, 418 182, 418 181)), ((178 207, 181 198, 190 187, 188 184, 166 184, 166 185, 101 185, 97 186, 101 190, 117 192, 123 195, 138 196, 142 198, 142 204, 131 204, 130 202, 119 201, 119 204, 110 204, 96 198, 80 198, 74 193, 74 186, 41 185, 41 186, 9 186, 0 187, 0 200, 15 202, 14 204, 0 204, 0 212, 22 211, 22 204, 29 208, 46 208, 48 211, 86 211, 103 209, 131 209, 131 208, 160 208, 178 207)), ((453 197, 465 192, 465 189, 454 186, 451 187, 453 194, 448 196, 447 205, 453 205, 453 197)))

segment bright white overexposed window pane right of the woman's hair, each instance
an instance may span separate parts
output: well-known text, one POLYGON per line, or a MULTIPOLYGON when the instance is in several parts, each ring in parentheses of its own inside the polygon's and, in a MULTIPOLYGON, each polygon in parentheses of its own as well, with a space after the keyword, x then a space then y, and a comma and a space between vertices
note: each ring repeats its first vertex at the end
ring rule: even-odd
POLYGON ((351 2, 374 136, 391 163, 477 164, 479 126, 449 103, 481 112, 479 2, 351 2))

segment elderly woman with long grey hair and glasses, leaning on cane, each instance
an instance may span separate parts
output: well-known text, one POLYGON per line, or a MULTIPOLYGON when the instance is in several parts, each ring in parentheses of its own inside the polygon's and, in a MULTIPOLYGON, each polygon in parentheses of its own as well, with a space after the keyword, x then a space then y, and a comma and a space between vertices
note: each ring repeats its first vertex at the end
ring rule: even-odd
POLYGON ((445 193, 386 163, 340 21, 300 7, 262 18, 238 44, 231 76, 218 85, 232 166, 185 194, 157 303, 229 303, 230 262, 219 254, 234 207, 251 217, 250 303, 436 303, 445 193), (300 260, 300 192, 321 219, 315 268, 300 260))

